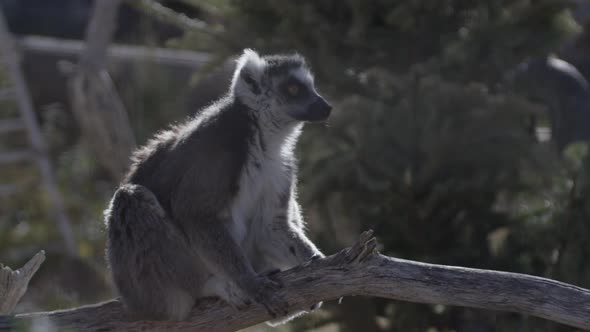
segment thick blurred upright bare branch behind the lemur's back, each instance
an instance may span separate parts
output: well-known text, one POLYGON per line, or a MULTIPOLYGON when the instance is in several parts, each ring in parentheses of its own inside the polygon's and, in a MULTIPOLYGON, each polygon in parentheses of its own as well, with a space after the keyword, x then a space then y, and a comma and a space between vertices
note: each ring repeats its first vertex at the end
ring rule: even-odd
POLYGON ((106 70, 107 47, 115 30, 120 0, 94 3, 86 49, 68 81, 72 110, 98 161, 119 181, 129 165, 135 138, 123 102, 106 70))

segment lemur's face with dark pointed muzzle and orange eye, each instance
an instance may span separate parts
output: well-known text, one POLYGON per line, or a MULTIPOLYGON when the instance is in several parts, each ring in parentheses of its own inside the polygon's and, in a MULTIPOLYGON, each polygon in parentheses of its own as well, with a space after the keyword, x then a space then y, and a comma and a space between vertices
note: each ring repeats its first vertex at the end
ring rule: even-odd
POLYGON ((297 121, 323 121, 332 106, 315 90, 313 76, 304 67, 271 79, 275 111, 297 121))

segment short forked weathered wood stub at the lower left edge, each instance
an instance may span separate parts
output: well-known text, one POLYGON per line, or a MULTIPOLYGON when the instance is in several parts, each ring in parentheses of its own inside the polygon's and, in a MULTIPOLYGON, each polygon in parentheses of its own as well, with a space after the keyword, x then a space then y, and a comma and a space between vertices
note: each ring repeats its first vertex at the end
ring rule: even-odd
POLYGON ((0 315, 8 315, 14 310, 44 260, 45 252, 41 251, 16 271, 0 264, 0 315))

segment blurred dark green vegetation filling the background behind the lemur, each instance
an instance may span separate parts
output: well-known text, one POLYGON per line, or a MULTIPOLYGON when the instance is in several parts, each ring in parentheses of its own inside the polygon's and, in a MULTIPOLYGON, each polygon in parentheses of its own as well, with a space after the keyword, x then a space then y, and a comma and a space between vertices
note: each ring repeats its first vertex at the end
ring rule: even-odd
MULTIPOLYGON (((588 1, 160 3, 199 24, 127 1, 114 42, 202 52, 208 61, 110 63, 138 144, 224 93, 243 48, 296 51, 335 105, 298 146, 302 205, 325 253, 372 228, 387 255, 590 288, 588 1)), ((83 39, 92 12, 87 0, 0 6, 19 36, 83 39)), ((102 211, 117 179, 72 116, 56 63, 75 57, 22 55, 78 252, 65 253, 34 164, 0 165, 0 185, 17 189, 0 195, 0 262, 17 267, 48 252, 20 311, 109 298, 102 211)), ((2 73, 0 82, 9 84, 2 73)), ((16 105, 0 102, 0 117, 15 114, 16 105)), ((3 136, 0 151, 26 144, 24 134, 3 136)), ((574 331, 516 314, 357 297, 284 329, 574 331)))

